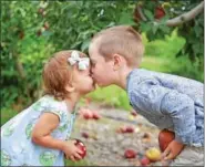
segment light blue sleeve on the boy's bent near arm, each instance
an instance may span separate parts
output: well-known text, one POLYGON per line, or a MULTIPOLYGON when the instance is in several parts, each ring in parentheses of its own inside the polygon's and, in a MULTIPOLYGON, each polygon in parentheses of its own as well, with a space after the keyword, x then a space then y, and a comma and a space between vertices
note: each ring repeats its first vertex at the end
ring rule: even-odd
POLYGON ((174 124, 175 139, 192 145, 196 126, 191 97, 162 86, 154 79, 141 82, 131 91, 130 96, 132 105, 137 105, 139 109, 150 115, 168 115, 174 124))

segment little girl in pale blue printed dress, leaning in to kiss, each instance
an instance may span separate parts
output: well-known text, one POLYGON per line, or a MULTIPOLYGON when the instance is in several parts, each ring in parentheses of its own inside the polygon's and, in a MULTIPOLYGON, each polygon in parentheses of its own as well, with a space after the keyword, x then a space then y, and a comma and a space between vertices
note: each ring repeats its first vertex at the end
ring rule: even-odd
POLYGON ((71 135, 79 98, 93 91, 90 61, 79 51, 55 53, 43 69, 45 95, 1 127, 2 166, 63 166, 81 159, 71 135))

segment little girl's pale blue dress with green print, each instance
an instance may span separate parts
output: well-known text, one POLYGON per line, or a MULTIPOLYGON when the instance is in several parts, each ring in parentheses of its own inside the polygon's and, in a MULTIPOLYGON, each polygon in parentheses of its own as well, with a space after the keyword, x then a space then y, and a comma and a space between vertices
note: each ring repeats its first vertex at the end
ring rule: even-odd
POLYGON ((70 137, 75 113, 68 111, 64 101, 45 95, 1 127, 2 166, 64 166, 63 152, 39 146, 31 139, 35 123, 45 112, 60 119, 52 137, 61 140, 70 137))

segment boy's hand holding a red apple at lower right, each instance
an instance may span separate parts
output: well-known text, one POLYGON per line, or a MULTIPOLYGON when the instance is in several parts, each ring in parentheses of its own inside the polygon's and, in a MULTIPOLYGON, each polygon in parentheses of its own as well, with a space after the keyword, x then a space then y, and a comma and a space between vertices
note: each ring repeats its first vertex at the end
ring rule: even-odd
POLYGON ((171 160, 174 159, 184 148, 184 144, 178 143, 176 140, 172 140, 167 148, 164 150, 162 154, 162 159, 163 160, 171 160))

